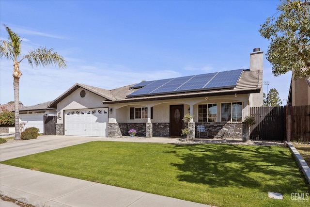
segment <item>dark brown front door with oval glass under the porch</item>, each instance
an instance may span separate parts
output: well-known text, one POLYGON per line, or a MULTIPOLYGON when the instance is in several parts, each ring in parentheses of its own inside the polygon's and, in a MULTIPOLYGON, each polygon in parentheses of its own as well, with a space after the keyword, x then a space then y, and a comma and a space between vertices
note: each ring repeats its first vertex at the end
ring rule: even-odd
POLYGON ((181 136, 183 128, 183 105, 170 106, 170 136, 181 136))

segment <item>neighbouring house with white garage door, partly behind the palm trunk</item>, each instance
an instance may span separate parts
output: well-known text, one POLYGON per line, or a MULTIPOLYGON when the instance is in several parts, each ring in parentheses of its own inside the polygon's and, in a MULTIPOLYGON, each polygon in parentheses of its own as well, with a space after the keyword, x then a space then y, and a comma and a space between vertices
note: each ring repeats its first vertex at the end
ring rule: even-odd
POLYGON ((48 107, 49 104, 50 101, 19 109, 19 123, 22 125, 22 130, 36 127, 39 133, 45 134, 44 117, 56 116, 56 109, 48 107))

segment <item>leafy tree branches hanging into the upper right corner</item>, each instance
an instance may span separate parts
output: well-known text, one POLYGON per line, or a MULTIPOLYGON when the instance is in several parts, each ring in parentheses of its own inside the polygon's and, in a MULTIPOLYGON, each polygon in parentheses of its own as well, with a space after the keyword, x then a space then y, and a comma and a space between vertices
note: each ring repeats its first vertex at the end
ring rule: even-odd
POLYGON ((266 53, 274 76, 292 70, 294 78, 310 77, 310 1, 281 0, 259 32, 270 41, 266 53), (279 14, 279 15, 278 15, 279 14))

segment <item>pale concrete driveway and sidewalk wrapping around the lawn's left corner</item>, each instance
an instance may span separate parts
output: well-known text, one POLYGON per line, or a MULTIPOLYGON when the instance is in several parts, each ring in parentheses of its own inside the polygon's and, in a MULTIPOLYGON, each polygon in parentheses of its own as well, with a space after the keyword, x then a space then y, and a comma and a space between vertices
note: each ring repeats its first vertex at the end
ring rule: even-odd
MULTIPOLYGON (((0 145, 0 160, 90 141, 176 143, 170 138, 40 136, 0 145)), ((37 207, 209 207, 180 199, 0 164, 0 194, 37 207)))

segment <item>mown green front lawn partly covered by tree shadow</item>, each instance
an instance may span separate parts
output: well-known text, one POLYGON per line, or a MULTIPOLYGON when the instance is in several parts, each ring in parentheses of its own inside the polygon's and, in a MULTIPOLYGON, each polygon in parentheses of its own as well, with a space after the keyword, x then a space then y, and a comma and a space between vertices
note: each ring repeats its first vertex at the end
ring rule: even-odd
POLYGON ((90 142, 1 162, 217 207, 310 206, 288 148, 90 142), (283 200, 267 192, 283 194, 283 200))

